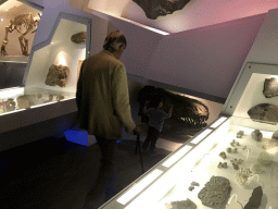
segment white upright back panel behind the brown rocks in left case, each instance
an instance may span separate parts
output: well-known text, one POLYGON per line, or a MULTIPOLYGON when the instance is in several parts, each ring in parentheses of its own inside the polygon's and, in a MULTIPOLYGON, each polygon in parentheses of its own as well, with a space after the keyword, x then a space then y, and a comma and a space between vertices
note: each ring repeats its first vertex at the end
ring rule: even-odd
POLYGON ((87 25, 61 19, 51 44, 34 52, 25 85, 27 94, 33 94, 34 89, 72 95, 76 93, 79 61, 86 58, 86 42, 75 44, 71 37, 80 32, 87 32, 87 25), (45 84, 51 64, 68 66, 70 75, 65 87, 45 84))

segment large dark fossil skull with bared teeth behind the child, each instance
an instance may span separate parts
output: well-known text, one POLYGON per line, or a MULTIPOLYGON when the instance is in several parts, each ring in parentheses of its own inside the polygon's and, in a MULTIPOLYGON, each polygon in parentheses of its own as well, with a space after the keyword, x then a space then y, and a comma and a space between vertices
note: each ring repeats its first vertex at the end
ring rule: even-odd
POLYGON ((172 120, 181 122, 185 127, 204 127, 207 125, 205 121, 208 119, 210 113, 208 108, 204 103, 150 85, 144 86, 139 91, 137 98, 140 104, 138 115, 141 116, 141 122, 148 123, 149 121, 148 115, 143 113, 143 107, 154 95, 162 97, 162 109, 165 112, 168 112, 170 104, 173 104, 172 120))

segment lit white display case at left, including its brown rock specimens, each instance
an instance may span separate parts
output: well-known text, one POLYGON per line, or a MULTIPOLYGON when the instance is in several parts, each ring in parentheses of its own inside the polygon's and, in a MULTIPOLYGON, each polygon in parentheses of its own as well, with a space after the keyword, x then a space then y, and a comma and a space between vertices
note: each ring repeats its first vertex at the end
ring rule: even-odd
POLYGON ((74 98, 79 70, 86 59, 86 24, 61 19, 50 44, 31 54, 24 90, 14 96, 1 97, 0 94, 1 112, 74 98))

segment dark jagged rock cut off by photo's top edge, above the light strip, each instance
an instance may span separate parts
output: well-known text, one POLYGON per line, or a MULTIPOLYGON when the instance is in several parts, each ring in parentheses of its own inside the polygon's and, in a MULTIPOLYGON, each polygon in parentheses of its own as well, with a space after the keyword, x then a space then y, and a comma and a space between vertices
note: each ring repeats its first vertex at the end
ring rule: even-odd
POLYGON ((177 10, 181 10, 190 0, 132 0, 146 13, 146 16, 151 20, 157 16, 172 14, 177 10))

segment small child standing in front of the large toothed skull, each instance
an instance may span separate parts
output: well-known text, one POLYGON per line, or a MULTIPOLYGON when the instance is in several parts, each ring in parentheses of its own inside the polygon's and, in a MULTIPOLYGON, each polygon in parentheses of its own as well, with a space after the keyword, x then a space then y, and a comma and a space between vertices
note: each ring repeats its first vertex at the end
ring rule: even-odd
POLYGON ((153 96, 150 102, 150 108, 147 110, 144 106, 143 112, 149 116, 148 134, 144 143, 142 145, 142 150, 147 150, 150 145, 150 156, 157 155, 154 150, 156 140, 160 137, 160 132, 162 131, 164 119, 172 116, 172 108, 168 113, 161 110, 163 101, 160 96, 153 96))

